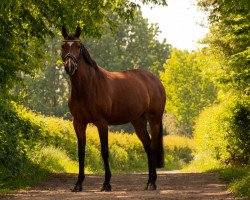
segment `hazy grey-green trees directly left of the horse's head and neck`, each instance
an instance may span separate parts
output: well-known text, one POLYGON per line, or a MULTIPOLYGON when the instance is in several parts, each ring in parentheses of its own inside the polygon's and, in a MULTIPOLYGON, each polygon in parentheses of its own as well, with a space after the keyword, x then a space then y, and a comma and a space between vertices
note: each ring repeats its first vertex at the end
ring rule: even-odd
POLYGON ((47 40, 44 47, 45 57, 42 60, 43 69, 37 71, 34 77, 25 76, 25 86, 17 87, 24 90, 23 103, 26 107, 45 115, 70 117, 67 109, 68 82, 60 59, 60 36, 47 40))

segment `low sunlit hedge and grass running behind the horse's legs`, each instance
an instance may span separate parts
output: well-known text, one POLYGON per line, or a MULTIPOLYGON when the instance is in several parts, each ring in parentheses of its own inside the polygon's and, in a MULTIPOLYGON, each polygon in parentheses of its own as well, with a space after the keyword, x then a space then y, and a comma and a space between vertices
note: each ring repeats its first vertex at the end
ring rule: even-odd
MULTIPOLYGON (((72 123, 27 111, 21 106, 0 104, 0 191, 30 186, 48 172, 78 172, 77 140, 72 123)), ((147 157, 138 137, 110 133, 112 172, 147 171, 147 157)), ((164 137, 165 169, 180 169, 192 159, 191 139, 164 137)), ((86 172, 103 172, 100 139, 88 126, 86 172)))

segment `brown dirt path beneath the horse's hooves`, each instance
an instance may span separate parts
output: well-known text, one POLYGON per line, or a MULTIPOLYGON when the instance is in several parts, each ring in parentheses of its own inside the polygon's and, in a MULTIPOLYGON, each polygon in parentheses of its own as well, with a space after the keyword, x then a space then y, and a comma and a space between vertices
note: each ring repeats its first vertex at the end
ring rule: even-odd
POLYGON ((72 193, 75 174, 52 174, 35 188, 11 194, 4 199, 234 199, 225 184, 212 173, 159 172, 156 191, 144 191, 146 174, 117 174, 112 177, 112 192, 100 192, 103 175, 87 175, 84 192, 72 193))

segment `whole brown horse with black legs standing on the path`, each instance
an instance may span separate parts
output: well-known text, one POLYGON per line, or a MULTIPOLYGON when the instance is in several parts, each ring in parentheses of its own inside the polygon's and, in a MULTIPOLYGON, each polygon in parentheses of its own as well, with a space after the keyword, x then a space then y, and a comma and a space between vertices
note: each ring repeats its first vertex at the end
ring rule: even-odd
POLYGON ((156 189, 156 168, 164 162, 162 115, 166 95, 161 82, 145 70, 109 72, 90 57, 81 43, 79 26, 73 34, 62 28, 62 59, 71 80, 68 105, 78 139, 79 175, 72 191, 82 191, 86 126, 98 128, 105 180, 101 191, 111 191, 108 150, 108 125, 131 122, 148 157, 149 179, 145 189, 156 189), (147 131, 151 129, 151 138, 147 131))

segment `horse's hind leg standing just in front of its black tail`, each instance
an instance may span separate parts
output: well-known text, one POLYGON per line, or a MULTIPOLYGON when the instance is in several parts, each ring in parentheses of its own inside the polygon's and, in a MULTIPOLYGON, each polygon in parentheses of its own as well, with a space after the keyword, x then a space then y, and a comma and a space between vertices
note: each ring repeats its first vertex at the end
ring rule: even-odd
POLYGON ((147 153, 148 157, 148 182, 146 185, 145 190, 155 190, 156 189, 156 167, 153 164, 153 158, 152 158, 152 151, 151 151, 151 139, 149 137, 148 131, 147 131, 147 120, 145 115, 143 115, 141 118, 135 120, 132 122, 132 125, 135 128, 135 132, 140 139, 140 141, 143 144, 143 147, 147 153))

